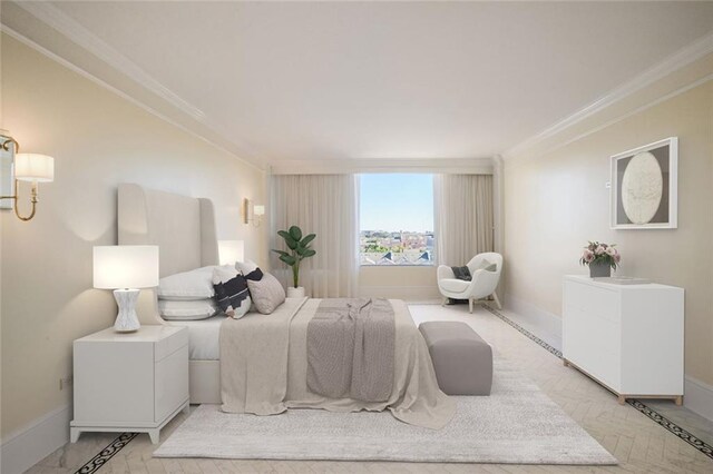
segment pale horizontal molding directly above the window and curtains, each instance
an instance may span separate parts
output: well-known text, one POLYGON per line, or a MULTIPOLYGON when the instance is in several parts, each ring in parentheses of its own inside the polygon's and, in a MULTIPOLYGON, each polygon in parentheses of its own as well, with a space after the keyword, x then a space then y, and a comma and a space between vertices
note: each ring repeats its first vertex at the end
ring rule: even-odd
POLYGON ((492 158, 389 158, 282 160, 272 175, 345 175, 359 172, 443 172, 492 175, 492 158))

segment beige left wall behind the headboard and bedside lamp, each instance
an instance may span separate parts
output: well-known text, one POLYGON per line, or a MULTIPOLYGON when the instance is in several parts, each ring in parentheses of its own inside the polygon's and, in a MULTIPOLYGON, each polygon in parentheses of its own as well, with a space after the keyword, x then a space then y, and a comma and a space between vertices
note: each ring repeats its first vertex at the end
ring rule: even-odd
MULTIPOLYGON (((2 226, 2 436, 66 406, 71 342, 114 322, 91 288, 91 247, 116 244, 116 187, 137 182, 212 198, 218 238, 245 240, 265 263, 264 227, 241 223, 243 197, 264 201, 263 172, 2 36, 2 124, 26 151, 56 158, 37 217, 2 226)), ((22 199, 22 207, 27 205, 22 199)))

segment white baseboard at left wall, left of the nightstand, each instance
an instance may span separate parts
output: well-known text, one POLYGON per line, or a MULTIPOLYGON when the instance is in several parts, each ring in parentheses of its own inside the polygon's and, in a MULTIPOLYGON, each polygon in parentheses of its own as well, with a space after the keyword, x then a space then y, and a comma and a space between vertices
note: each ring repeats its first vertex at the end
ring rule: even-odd
POLYGON ((2 440, 0 471, 20 474, 69 442, 71 406, 59 407, 2 440))

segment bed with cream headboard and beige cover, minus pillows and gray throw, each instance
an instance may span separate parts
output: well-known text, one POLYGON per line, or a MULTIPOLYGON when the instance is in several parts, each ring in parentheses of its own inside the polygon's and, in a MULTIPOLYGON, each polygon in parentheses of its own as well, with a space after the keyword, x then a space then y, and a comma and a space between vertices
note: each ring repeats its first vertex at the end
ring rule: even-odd
MULTIPOLYGON (((217 265, 215 224, 208 199, 138 185, 119 186, 119 244, 159 246, 162 277, 217 265)), ((403 302, 390 302, 395 326, 392 392, 383 401, 363 402, 318 396, 306 387, 307 325, 319 310, 319 299, 289 298, 270 316, 248 313, 237 320, 214 316, 201 322, 168 323, 158 315, 154 292, 144 293, 141 324, 188 327, 192 404, 222 404, 225 412, 255 414, 281 413, 292 407, 341 412, 389 408, 399 419, 431 428, 443 426, 455 413, 455 401, 438 388, 428 348, 403 302), (231 336, 226 338, 228 329, 231 336), (228 367, 223 374, 221 354, 224 367, 228 367), (237 358, 241 362, 234 363, 237 358)))

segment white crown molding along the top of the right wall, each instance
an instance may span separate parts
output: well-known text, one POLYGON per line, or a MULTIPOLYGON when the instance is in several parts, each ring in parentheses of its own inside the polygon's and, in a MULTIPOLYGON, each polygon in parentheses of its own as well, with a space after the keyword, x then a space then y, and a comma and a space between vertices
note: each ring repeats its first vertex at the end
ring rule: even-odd
POLYGON ((566 117, 565 119, 551 125, 539 134, 509 148, 502 154, 504 159, 507 160, 509 158, 521 155, 531 147, 535 147, 536 145, 545 140, 557 136, 569 127, 579 124, 580 121, 600 112, 602 110, 613 106, 614 103, 634 95, 635 92, 638 92, 647 86, 651 86, 652 83, 712 52, 713 33, 710 33, 682 48, 677 52, 664 59, 658 65, 647 69, 646 71, 636 76, 634 79, 624 82, 623 85, 613 89, 612 91, 592 102, 590 105, 584 107, 583 109, 579 109, 569 117, 566 117))

